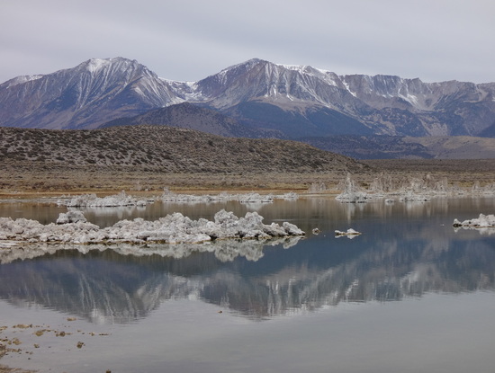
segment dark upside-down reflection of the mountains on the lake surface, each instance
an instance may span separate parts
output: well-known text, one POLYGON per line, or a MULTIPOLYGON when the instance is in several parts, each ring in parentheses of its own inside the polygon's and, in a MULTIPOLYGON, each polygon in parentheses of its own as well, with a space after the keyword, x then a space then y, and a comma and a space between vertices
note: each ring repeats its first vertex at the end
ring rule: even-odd
MULTIPOLYGON (((281 206, 277 210, 281 218, 296 211, 294 204, 281 206)), ((121 324, 146 317, 176 298, 199 298, 262 320, 343 301, 494 289, 494 236, 455 233, 445 224, 452 222, 452 214, 467 214, 466 209, 454 206, 448 213, 443 202, 416 207, 331 206, 331 217, 321 210, 324 203, 299 210, 301 216, 294 223, 306 222, 302 228, 310 232, 311 226, 320 226, 322 233, 297 244, 263 246, 247 241, 248 249, 238 242, 216 249, 213 244, 180 258, 157 253, 136 256, 118 249, 61 250, 4 263, 0 298, 17 306, 46 306, 95 323, 121 324), (354 240, 335 239, 333 229, 347 224, 364 234, 354 240)), ((473 217, 475 206, 470 202, 467 209, 473 217)), ((265 215, 271 214, 277 215, 275 211, 265 215)))

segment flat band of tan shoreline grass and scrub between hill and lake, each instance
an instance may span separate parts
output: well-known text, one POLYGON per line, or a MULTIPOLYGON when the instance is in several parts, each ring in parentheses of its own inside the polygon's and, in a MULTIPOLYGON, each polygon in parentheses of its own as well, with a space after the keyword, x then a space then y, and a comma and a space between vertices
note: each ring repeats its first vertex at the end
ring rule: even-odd
MULTIPOLYGON (((361 188, 377 178, 395 182, 412 179, 444 181, 463 190, 495 183, 495 162, 484 160, 369 160, 366 167, 350 172, 361 188)), ((101 196, 126 191, 137 196, 177 193, 208 194, 220 191, 262 194, 273 192, 327 193, 344 190, 347 170, 324 172, 225 172, 166 173, 142 167, 77 166, 11 161, 0 164, 0 200, 56 197, 62 194, 96 193, 101 196)))

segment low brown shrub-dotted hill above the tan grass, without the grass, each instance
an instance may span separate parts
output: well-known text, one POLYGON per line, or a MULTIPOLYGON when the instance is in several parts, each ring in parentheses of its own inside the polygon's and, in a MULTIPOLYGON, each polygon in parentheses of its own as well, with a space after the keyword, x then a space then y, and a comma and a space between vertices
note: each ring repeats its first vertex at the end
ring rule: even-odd
POLYGON ((92 130, 0 128, 0 162, 160 173, 357 173, 354 159, 296 141, 224 138, 167 126, 92 130))

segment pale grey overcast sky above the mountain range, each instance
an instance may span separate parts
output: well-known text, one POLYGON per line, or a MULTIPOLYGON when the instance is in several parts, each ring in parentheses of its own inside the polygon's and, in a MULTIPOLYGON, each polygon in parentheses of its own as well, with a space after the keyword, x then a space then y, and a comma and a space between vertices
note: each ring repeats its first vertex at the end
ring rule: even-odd
POLYGON ((494 20, 493 0, 0 0, 0 83, 111 57, 180 81, 262 58, 495 82, 494 20))

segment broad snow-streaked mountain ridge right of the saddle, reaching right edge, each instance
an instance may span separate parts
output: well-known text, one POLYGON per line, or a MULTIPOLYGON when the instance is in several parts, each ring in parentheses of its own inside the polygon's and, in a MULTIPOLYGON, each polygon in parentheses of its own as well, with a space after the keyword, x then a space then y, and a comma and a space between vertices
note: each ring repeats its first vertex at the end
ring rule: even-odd
POLYGON ((479 135, 494 127, 495 84, 423 83, 337 75, 252 59, 199 81, 209 105, 238 120, 301 136, 479 135))

